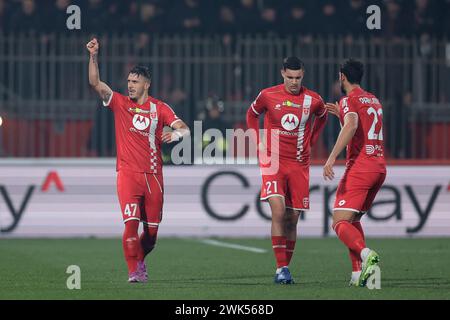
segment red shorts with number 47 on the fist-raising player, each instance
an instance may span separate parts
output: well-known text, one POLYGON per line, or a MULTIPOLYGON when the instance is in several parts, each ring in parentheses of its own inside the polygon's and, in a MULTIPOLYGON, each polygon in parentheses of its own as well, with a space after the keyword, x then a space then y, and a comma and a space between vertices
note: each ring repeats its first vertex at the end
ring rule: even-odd
POLYGON ((123 222, 142 221, 158 226, 162 219, 164 185, 162 175, 120 170, 117 194, 123 222))

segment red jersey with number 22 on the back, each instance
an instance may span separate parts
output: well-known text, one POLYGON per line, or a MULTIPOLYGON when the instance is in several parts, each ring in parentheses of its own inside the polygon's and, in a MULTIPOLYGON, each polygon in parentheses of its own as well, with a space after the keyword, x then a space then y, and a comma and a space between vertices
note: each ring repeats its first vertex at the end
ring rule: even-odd
POLYGON ((358 115, 358 128, 347 145, 347 168, 360 172, 386 172, 383 145, 383 108, 378 99, 361 88, 339 102, 341 123, 349 113, 358 115))

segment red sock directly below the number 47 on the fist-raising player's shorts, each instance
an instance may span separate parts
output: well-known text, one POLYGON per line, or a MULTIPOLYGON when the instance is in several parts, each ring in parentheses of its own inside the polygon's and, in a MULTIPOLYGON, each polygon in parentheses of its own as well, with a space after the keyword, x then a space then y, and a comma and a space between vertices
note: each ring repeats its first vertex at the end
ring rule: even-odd
POLYGON ((138 229, 139 220, 130 220, 125 223, 122 246, 129 273, 136 271, 139 252, 142 250, 138 236, 138 229))

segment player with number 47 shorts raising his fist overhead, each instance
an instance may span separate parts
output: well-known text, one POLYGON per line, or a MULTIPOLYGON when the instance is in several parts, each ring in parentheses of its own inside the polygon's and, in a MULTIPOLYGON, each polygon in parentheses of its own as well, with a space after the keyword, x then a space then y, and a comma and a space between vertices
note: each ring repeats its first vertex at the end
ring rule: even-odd
POLYGON ((117 193, 125 230, 123 251, 129 282, 148 279, 145 257, 156 243, 162 219, 163 173, 161 143, 189 135, 189 128, 164 102, 148 95, 150 72, 137 66, 128 75, 128 96, 113 92, 100 81, 97 39, 87 44, 90 53, 89 84, 114 113, 117 141, 117 193), (172 132, 163 133, 164 126, 172 132), (138 235, 139 223, 143 231, 138 235))

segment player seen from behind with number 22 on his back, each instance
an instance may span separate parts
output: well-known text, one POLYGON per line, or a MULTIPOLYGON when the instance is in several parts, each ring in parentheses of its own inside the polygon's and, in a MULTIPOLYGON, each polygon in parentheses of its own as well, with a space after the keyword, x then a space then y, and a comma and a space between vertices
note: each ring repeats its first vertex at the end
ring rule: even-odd
POLYGON ((336 191, 333 229, 348 247, 352 261, 350 285, 365 286, 378 264, 378 254, 367 248, 361 217, 366 213, 384 179, 383 109, 378 99, 364 91, 360 83, 364 66, 353 59, 340 69, 339 81, 346 97, 339 104, 327 103, 327 110, 339 117, 342 129, 323 168, 326 179, 334 178, 336 157, 347 146, 346 171, 336 191))

